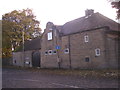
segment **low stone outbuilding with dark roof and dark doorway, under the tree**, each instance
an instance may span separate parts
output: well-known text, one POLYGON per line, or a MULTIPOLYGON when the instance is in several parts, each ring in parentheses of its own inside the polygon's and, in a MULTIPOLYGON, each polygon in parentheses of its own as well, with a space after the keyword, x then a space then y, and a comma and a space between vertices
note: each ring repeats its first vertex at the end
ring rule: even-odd
POLYGON ((13 52, 13 65, 22 67, 40 67, 41 39, 26 41, 24 50, 13 52))

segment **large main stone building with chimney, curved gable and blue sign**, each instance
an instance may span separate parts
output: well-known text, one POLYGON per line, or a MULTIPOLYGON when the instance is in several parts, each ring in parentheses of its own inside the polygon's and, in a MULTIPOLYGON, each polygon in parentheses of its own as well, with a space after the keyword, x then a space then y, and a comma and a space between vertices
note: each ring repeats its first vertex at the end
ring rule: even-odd
POLYGON ((119 35, 118 23, 91 9, 64 25, 48 22, 41 39, 41 67, 117 68, 119 35))

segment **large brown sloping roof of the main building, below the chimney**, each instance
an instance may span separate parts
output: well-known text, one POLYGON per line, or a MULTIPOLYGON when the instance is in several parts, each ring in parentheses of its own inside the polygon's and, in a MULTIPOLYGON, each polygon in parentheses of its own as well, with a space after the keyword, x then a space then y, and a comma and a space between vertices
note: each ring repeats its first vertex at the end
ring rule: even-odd
POLYGON ((84 16, 65 23, 62 27, 61 33, 63 35, 68 35, 104 26, 108 26, 111 30, 118 31, 118 25, 120 24, 103 16, 100 13, 93 13, 92 15, 84 16))

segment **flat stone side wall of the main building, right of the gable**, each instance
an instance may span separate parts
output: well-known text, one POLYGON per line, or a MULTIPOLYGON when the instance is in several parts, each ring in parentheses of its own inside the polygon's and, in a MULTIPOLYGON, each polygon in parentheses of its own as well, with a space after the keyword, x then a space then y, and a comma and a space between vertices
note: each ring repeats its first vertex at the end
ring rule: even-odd
MULTIPOLYGON (((104 34, 103 30, 92 30, 88 32, 82 32, 78 34, 72 34, 70 37, 70 56, 62 53, 62 61, 71 60, 72 68, 83 68, 83 69, 92 69, 92 68, 105 68, 105 47, 104 47, 104 34), (89 41, 85 42, 84 36, 89 37, 89 41), (95 55, 95 49, 100 49, 100 56, 95 55), (89 57, 89 61, 86 62, 85 58, 89 57)), ((66 43, 68 36, 62 37, 62 49, 64 46, 68 45, 66 43)), ((69 46, 69 45, 68 45, 69 46)))

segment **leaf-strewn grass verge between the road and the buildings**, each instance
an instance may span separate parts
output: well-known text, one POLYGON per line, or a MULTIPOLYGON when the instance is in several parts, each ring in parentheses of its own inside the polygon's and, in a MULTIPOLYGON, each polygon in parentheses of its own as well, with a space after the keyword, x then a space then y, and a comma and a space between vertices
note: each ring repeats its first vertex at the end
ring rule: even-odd
POLYGON ((96 78, 117 78, 120 76, 117 69, 41 69, 41 68, 23 68, 16 66, 6 66, 4 68, 12 68, 18 70, 28 70, 32 72, 43 72, 56 75, 71 75, 71 76, 81 76, 81 77, 96 77, 96 78))

